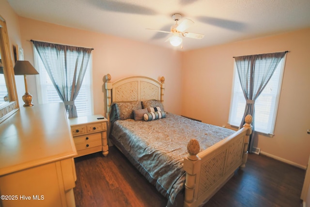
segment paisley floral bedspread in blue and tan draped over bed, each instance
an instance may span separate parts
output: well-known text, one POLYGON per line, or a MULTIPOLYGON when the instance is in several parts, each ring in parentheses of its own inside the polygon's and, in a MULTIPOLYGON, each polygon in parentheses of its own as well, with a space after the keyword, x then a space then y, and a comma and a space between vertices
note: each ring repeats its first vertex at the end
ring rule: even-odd
POLYGON ((110 139, 125 155, 130 155, 129 160, 141 174, 173 204, 184 188, 183 161, 190 139, 197 139, 204 150, 234 132, 167 113, 166 118, 149 122, 117 120, 110 139))

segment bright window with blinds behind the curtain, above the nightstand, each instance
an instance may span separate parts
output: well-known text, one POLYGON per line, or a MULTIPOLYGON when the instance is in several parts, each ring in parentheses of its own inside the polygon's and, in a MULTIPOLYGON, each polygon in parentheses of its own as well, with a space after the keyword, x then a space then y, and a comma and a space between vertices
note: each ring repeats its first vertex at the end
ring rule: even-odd
MULTIPOLYGON (((34 60, 36 69, 39 75, 36 76, 37 79, 37 90, 38 90, 38 101, 40 104, 43 103, 53 103, 62 102, 58 93, 50 80, 47 70, 35 48, 34 50, 34 60)), ((84 76, 84 80, 78 97, 75 100, 75 105, 77 107, 78 116, 87 116, 93 114, 93 95, 92 95, 92 81, 91 81, 91 68, 92 68, 92 57, 87 65, 87 70, 84 76)))

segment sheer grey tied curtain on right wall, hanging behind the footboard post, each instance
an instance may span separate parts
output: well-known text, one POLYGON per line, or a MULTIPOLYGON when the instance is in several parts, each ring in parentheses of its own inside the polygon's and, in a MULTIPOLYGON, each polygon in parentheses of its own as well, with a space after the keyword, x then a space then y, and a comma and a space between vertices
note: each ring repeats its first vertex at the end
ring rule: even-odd
POLYGON ((263 89, 285 54, 286 51, 234 57, 239 80, 246 99, 246 107, 239 128, 245 124, 244 119, 246 115, 250 114, 253 117, 253 132, 248 144, 249 152, 252 152, 255 131, 255 100, 263 92, 263 89))

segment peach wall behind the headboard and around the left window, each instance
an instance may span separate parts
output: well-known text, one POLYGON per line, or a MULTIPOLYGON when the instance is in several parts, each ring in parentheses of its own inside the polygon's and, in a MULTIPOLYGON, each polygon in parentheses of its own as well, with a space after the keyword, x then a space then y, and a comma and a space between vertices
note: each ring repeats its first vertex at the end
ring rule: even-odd
MULTIPOLYGON (((94 48, 93 101, 94 113, 106 113, 104 76, 110 74, 112 82, 127 76, 147 76, 166 81, 164 106, 166 111, 181 113, 181 54, 169 48, 155 47, 107 34, 83 31, 29 18, 19 17, 25 60, 33 63, 33 40, 79 47, 94 48)), ((29 91, 36 100, 35 77, 30 76, 29 91)))

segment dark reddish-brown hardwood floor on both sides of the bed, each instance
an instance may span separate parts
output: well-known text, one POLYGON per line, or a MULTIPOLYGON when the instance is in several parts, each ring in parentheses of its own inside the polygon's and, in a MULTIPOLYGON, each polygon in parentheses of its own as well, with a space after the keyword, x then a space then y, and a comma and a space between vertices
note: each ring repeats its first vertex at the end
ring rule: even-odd
MULTIPOLYGON (((140 175, 124 155, 109 147, 75 159, 77 207, 165 207, 167 199, 140 175)), ((237 170, 204 207, 302 207, 305 170, 263 155, 249 154, 246 168, 237 170)))

